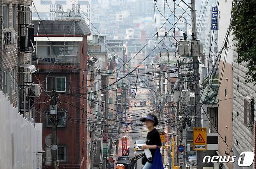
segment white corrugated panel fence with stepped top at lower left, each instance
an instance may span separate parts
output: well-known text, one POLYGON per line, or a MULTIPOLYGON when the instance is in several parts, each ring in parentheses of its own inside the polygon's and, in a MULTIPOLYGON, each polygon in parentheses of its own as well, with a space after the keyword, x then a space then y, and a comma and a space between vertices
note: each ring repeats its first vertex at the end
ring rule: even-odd
POLYGON ((0 91, 0 168, 41 168, 42 123, 33 126, 0 91))

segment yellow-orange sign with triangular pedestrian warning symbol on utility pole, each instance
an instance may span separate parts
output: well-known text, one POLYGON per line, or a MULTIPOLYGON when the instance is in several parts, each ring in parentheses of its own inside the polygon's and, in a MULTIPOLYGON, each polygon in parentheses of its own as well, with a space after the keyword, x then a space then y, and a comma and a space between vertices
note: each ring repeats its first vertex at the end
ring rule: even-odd
POLYGON ((206 150, 206 128, 193 128, 193 150, 206 150))

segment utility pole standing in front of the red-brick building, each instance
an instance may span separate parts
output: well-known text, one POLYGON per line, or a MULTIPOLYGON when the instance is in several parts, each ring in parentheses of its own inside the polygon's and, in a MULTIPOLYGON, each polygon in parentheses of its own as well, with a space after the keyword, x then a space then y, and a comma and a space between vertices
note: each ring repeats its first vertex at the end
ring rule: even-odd
POLYGON ((51 155, 52 155, 52 166, 53 169, 58 169, 58 161, 57 161, 57 136, 56 136, 56 128, 57 128, 57 100, 56 93, 53 90, 51 92, 51 105, 50 105, 50 114, 52 116, 52 138, 51 138, 51 155), (53 98, 54 97, 54 98, 53 98))

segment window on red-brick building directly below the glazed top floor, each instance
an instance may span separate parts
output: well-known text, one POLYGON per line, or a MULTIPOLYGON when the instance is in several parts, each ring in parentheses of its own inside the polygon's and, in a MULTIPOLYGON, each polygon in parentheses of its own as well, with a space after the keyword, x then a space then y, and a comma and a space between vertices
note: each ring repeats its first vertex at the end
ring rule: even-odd
POLYGON ((46 91, 51 92, 66 91, 66 78, 65 77, 47 77, 46 79, 46 91))

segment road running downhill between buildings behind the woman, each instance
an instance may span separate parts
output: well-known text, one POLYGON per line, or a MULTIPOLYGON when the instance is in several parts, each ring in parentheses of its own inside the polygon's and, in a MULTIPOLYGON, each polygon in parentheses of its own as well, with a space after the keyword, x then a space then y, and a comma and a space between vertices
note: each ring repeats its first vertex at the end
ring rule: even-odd
MULTIPOLYGON (((148 95, 147 93, 147 89, 146 88, 140 88, 137 90, 137 94, 136 97, 133 98, 130 102, 130 105, 134 105, 134 102, 137 102, 137 106, 136 107, 132 107, 129 109, 129 114, 133 114, 136 116, 140 116, 143 117, 146 114, 148 114, 150 112, 150 104, 148 101, 148 95), (140 106, 140 100, 146 100, 147 101, 147 105, 146 106, 140 106)), ((143 122, 139 121, 140 117, 132 117, 132 122, 136 123, 136 124, 144 124, 143 122)), ((134 142, 136 140, 145 140, 146 141, 146 136, 147 136, 147 128, 143 125, 143 126, 132 126, 131 132, 129 133, 130 136, 130 158, 134 157, 134 142)), ((143 153, 143 151, 137 151, 137 155, 139 155, 140 153, 143 153)), ((142 163, 141 163, 141 159, 139 159, 137 161, 137 169, 141 169, 143 167, 142 163)))

